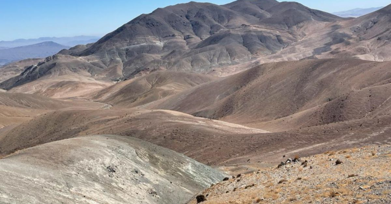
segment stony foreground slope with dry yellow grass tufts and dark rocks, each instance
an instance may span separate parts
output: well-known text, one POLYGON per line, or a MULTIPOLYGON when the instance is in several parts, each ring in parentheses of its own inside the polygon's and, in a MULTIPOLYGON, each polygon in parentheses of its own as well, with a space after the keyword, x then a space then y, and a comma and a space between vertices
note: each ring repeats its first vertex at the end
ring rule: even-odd
POLYGON ((326 152, 234 177, 204 190, 201 203, 390 204, 391 146, 326 152))

